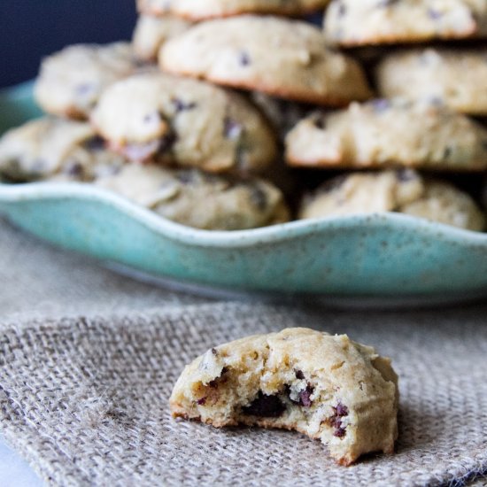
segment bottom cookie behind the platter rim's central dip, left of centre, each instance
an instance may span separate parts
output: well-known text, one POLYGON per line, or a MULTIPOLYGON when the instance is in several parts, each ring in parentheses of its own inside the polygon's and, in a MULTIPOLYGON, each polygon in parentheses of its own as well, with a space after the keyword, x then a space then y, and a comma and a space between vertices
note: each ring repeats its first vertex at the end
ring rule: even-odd
POLYGON ((197 169, 128 164, 96 184, 168 220, 208 230, 239 230, 289 220, 282 193, 259 179, 238 180, 197 169))

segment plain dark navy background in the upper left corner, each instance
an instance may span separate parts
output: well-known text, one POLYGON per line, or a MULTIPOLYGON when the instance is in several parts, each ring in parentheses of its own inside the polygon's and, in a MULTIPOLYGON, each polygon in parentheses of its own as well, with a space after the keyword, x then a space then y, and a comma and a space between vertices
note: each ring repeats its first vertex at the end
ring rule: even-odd
POLYGON ((0 0, 0 87, 67 44, 128 40, 134 26, 135 0, 0 0))

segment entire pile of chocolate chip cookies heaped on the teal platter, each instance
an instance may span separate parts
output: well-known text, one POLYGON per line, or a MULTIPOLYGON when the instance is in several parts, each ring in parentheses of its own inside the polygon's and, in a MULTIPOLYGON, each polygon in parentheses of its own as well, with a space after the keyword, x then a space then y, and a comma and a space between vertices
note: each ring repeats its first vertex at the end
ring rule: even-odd
POLYGON ((0 174, 92 182, 197 228, 375 212, 484 228, 452 179, 487 169, 487 129, 468 118, 487 109, 485 48, 451 39, 487 35, 485 0, 137 7, 131 44, 43 61, 35 96, 49 115, 4 135, 0 174), (323 10, 324 31, 305 20, 323 10), (433 41, 449 44, 391 47, 433 41), (367 71, 358 46, 379 59, 367 71), (300 179, 313 190, 298 194, 300 179))

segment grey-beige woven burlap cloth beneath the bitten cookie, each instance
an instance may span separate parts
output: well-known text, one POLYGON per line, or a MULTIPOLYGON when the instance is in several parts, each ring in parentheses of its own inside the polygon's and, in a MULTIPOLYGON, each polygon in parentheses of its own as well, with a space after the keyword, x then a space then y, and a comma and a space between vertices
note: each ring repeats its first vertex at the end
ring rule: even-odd
POLYGON ((487 469, 487 304, 380 313, 208 302, 130 282, 1 221, 0 285, 0 435, 46 483, 461 485, 487 469), (394 456, 343 468, 298 433, 171 419, 167 398, 190 359, 297 325, 393 358, 394 456))

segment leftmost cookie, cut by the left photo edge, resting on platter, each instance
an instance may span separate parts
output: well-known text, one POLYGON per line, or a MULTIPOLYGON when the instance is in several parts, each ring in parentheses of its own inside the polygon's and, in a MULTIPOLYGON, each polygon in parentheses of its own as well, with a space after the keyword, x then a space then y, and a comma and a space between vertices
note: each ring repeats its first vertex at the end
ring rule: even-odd
POLYGON ((0 174, 14 182, 93 181, 124 163, 81 121, 43 117, 0 139, 0 174))

